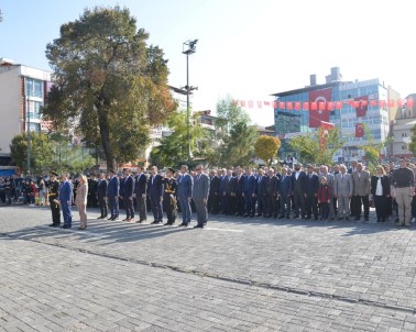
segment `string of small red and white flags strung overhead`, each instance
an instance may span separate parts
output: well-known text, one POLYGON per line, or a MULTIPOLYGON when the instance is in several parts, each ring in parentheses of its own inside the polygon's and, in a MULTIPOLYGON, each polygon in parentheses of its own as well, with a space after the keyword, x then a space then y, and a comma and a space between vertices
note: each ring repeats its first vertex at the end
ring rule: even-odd
POLYGON ((321 111, 332 111, 342 109, 343 104, 349 104, 353 108, 365 108, 368 106, 380 108, 394 108, 394 107, 408 107, 414 106, 413 99, 388 99, 388 100, 376 100, 368 99, 368 96, 357 97, 353 100, 342 100, 342 101, 254 101, 254 100, 233 100, 234 106, 240 106, 242 108, 263 108, 273 107, 273 109, 281 110, 295 110, 295 111, 309 111, 309 110, 321 110, 321 111))

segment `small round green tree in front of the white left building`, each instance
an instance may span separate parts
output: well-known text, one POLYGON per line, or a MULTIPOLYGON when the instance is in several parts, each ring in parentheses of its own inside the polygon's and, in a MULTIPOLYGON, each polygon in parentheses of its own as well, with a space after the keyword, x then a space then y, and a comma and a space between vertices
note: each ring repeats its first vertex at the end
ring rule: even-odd
MULTIPOLYGON (((17 166, 28 171, 28 134, 18 134, 10 144, 11 157, 17 166)), ((41 174, 51 168, 54 156, 48 136, 42 132, 30 133, 30 167, 33 174, 41 174)))

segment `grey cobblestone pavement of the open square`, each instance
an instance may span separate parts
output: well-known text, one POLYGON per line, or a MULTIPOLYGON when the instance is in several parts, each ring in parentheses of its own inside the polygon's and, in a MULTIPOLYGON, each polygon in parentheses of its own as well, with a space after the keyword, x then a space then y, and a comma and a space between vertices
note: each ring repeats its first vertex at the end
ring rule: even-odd
POLYGON ((0 331, 416 331, 413 228, 98 215, 0 207, 0 331))

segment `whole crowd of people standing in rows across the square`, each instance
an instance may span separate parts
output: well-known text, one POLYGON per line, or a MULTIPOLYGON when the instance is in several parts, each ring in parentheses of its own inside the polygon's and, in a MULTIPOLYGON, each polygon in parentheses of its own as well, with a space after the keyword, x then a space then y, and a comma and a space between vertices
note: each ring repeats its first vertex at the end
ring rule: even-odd
MULTIPOLYGON (((292 162, 292 161, 291 161, 292 162)), ((395 218, 397 225, 409 226, 416 219, 415 168, 401 158, 394 163, 376 166, 374 174, 362 163, 344 165, 311 165, 303 167, 294 161, 283 167, 211 168, 198 165, 189 170, 183 165, 178 171, 167 168, 160 171, 152 166, 150 173, 139 166, 135 174, 129 168, 117 174, 110 170, 87 179, 81 175, 70 179, 61 176, 22 179, 19 187, 24 203, 50 204, 53 223, 72 228, 72 207, 80 215, 80 230, 87 229, 87 207, 99 207, 99 219, 120 220, 120 209, 125 210, 127 222, 147 222, 152 212, 152 224, 165 225, 176 222, 182 212, 180 226, 188 226, 191 212, 196 212, 197 224, 204 228, 210 214, 244 218, 315 219, 322 221, 363 218, 369 221, 370 207, 374 206, 377 222, 395 218), (47 199, 46 199, 47 198, 47 199), (59 212, 61 211, 61 212, 59 212), (135 217, 139 215, 136 219, 135 217), (394 215, 394 217, 393 217, 394 215)), ((7 186, 6 200, 17 199, 17 179, 0 179, 7 186)))

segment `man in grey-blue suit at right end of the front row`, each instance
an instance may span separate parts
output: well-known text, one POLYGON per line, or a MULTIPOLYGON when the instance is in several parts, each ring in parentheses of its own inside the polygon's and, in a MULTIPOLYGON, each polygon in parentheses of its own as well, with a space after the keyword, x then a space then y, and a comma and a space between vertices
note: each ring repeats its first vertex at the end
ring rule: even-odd
POLYGON ((198 165, 196 168, 197 175, 194 178, 193 199, 195 202, 195 210, 197 213, 197 225, 194 229, 204 229, 208 222, 208 193, 209 193, 209 178, 204 173, 204 166, 198 165))

